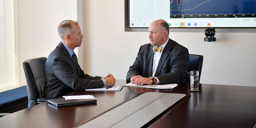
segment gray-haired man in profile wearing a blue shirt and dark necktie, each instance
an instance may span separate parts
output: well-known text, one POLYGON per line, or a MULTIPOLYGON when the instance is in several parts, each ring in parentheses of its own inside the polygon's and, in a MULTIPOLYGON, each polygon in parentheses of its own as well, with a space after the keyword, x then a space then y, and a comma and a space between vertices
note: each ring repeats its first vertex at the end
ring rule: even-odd
POLYGON ((59 45, 50 53, 45 65, 45 98, 56 98, 75 90, 115 85, 112 74, 92 77, 85 74, 74 53, 81 46, 83 34, 77 21, 65 20, 58 26, 59 45))

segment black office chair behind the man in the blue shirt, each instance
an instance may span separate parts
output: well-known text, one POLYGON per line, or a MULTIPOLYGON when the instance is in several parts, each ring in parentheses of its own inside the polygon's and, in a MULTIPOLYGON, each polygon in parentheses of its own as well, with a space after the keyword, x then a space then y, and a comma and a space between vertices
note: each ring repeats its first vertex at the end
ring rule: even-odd
POLYGON ((27 107, 47 101, 46 98, 43 98, 46 59, 46 57, 39 57, 27 59, 22 63, 27 83, 27 107))

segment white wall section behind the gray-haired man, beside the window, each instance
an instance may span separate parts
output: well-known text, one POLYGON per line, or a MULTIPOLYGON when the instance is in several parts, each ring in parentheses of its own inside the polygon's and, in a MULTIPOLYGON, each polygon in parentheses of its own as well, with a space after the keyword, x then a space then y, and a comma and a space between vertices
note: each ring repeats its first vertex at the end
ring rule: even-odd
POLYGON ((48 57, 61 41, 57 32, 59 23, 65 19, 77 20, 77 17, 74 0, 18 1, 21 85, 26 85, 22 62, 48 57))

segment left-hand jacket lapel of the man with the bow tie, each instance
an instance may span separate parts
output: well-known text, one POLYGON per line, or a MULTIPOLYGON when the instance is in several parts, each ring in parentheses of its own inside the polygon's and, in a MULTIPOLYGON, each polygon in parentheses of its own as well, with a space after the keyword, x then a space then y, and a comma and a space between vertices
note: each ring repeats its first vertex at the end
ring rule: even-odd
POLYGON ((149 49, 147 50, 147 70, 149 71, 148 76, 152 76, 152 69, 153 69, 153 59, 154 59, 154 52, 153 52, 153 46, 151 45, 149 49))

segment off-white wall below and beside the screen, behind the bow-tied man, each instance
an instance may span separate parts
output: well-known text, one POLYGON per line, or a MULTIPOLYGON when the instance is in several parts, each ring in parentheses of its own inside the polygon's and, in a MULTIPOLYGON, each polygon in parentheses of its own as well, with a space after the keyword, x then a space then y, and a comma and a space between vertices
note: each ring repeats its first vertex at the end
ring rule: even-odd
MULTIPOLYGON (((85 73, 125 79, 139 47, 149 43, 148 32, 124 31, 121 0, 84 0, 83 16, 85 73)), ((204 32, 169 37, 204 56, 200 83, 256 86, 256 33, 216 33, 216 42, 204 42, 204 32)))

